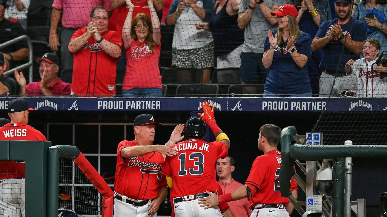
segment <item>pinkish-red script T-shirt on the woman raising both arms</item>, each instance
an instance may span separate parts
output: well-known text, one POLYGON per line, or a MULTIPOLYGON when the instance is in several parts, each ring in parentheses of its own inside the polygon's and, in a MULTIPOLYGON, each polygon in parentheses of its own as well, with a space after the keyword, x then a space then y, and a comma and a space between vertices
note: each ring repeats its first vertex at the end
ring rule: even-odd
POLYGON ((151 48, 132 39, 126 50, 127 64, 122 90, 133 88, 161 88, 159 69, 160 44, 151 48))

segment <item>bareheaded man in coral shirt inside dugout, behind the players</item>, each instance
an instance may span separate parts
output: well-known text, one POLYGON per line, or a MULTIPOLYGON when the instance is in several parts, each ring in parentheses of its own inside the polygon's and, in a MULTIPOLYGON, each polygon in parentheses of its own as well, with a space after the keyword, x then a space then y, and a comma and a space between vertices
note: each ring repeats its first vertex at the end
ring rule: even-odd
MULTIPOLYGON (((227 156, 224 159, 219 158, 216 161, 215 167, 216 175, 219 178, 218 183, 221 186, 223 194, 230 193, 243 186, 242 183, 235 181, 231 176, 231 173, 235 170, 235 160, 233 157, 227 156)), ((235 217, 249 217, 251 210, 248 204, 247 198, 228 202, 228 206, 235 217)))

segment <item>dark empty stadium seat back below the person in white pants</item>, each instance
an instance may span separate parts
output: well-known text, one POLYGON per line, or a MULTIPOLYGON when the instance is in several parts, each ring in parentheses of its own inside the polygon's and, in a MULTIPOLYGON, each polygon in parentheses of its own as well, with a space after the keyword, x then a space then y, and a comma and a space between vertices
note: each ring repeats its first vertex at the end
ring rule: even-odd
POLYGON ((239 68, 223 68, 216 69, 212 74, 212 83, 219 84, 240 84, 240 69, 239 68))

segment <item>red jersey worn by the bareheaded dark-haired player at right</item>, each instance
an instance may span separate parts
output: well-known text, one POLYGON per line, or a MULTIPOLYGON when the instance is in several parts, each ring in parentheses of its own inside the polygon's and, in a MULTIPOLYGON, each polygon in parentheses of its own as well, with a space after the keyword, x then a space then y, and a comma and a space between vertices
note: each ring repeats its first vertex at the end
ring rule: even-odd
MULTIPOLYGON (((251 189, 250 207, 258 203, 288 204, 286 197, 281 197, 279 191, 279 168, 281 167, 281 152, 269 151, 267 154, 255 158, 250 175, 245 182, 251 189)), ((297 182, 290 181, 291 191, 297 190, 297 182)))

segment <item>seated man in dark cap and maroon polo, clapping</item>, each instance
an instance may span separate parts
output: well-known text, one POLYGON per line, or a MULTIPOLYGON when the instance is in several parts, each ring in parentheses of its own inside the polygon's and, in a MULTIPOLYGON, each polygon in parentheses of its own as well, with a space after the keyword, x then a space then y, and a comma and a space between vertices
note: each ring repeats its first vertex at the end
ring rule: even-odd
POLYGON ((20 85, 20 95, 45 95, 63 96, 69 95, 71 84, 63 82, 58 77, 59 60, 53 53, 45 53, 41 58, 36 59, 39 63, 41 81, 32 82, 26 85, 27 81, 23 73, 15 69, 15 79, 20 85))

